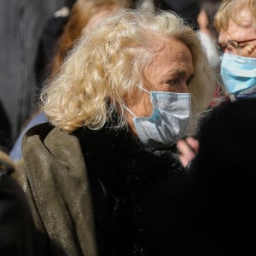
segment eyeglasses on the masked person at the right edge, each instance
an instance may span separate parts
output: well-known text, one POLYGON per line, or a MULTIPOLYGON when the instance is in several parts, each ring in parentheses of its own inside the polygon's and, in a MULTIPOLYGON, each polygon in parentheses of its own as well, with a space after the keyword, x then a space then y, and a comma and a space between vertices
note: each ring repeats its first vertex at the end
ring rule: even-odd
POLYGON ((242 49, 247 45, 247 43, 253 41, 256 41, 256 38, 244 41, 230 40, 227 42, 227 44, 218 44, 218 49, 221 54, 228 52, 234 55, 242 55, 242 49))

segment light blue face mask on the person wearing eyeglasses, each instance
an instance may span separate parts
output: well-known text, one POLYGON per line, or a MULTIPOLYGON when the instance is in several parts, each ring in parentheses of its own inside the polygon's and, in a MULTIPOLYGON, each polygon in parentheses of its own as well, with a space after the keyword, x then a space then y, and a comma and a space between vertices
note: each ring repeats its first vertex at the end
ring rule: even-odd
POLYGON ((224 53, 220 74, 230 95, 251 92, 256 85, 256 58, 224 53))

